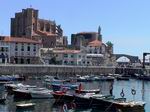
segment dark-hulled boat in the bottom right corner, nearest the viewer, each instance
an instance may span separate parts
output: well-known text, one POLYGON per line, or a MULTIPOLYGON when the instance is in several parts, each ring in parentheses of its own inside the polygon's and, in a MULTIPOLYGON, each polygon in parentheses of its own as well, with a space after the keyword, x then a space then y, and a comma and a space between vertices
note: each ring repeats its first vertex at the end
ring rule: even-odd
POLYGON ((122 109, 144 108, 145 102, 126 101, 126 98, 107 99, 92 97, 92 108, 118 111, 122 109))

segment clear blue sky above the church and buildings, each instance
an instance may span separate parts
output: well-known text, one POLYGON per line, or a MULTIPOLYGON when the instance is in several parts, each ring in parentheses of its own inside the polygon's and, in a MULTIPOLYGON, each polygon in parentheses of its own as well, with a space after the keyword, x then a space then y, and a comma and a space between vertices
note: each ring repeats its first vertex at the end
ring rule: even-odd
POLYGON ((114 44, 115 54, 142 57, 150 52, 149 0, 1 0, 0 35, 10 35, 10 18, 29 7, 39 18, 55 20, 64 35, 98 30, 103 42, 114 44))

